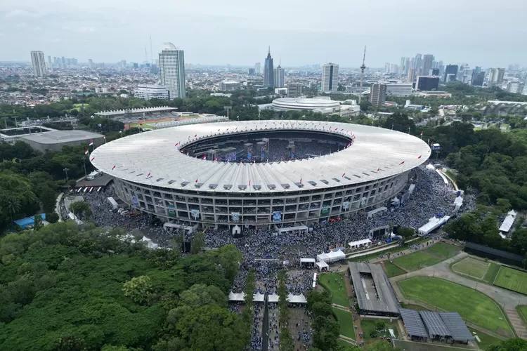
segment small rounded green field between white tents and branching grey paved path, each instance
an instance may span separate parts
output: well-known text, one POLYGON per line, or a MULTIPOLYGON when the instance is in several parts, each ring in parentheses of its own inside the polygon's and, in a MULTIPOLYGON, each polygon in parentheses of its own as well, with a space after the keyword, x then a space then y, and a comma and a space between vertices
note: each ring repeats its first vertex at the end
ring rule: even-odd
POLYGON ((393 263, 408 272, 413 272, 415 270, 419 270, 422 267, 435 265, 436 263, 440 263, 447 258, 455 256, 455 254, 460 250, 461 248, 459 246, 439 242, 430 246, 428 249, 398 257, 393 260, 393 263))

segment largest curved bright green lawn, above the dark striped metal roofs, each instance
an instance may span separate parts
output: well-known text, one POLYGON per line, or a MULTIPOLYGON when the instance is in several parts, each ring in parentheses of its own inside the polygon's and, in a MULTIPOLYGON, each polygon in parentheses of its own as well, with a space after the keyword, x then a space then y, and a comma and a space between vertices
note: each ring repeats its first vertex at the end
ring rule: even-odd
POLYGON ((410 300, 419 300, 438 310, 456 311, 482 328, 511 337, 512 331, 500 307, 479 291, 443 279, 414 277, 398 282, 410 300), (501 319, 500 319, 501 318, 501 319))

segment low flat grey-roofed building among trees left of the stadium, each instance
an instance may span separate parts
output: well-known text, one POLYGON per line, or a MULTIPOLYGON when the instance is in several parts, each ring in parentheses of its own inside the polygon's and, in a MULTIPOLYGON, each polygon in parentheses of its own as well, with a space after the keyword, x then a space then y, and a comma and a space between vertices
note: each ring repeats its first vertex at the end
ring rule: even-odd
POLYGON ((91 141, 95 145, 102 145, 104 143, 103 135, 89 131, 50 131, 24 135, 20 140, 28 143, 34 150, 40 152, 46 152, 48 150, 60 151, 63 146, 89 144, 91 141))

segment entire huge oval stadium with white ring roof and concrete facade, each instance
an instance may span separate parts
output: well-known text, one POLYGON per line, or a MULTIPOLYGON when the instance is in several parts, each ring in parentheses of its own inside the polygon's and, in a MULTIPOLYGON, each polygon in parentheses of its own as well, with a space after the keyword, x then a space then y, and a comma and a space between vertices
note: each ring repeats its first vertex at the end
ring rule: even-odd
POLYGON ((427 143, 384 128, 226 121, 119 138, 90 156, 122 201, 173 225, 308 226, 383 206, 427 143))

